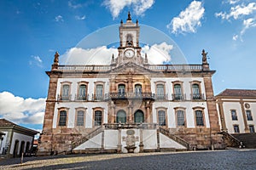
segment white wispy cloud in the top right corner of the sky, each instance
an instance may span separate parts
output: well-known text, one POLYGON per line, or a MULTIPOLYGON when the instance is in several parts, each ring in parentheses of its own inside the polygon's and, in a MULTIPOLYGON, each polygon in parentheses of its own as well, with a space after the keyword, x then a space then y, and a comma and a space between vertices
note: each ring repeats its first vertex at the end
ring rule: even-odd
POLYGON ((236 5, 236 7, 231 7, 230 13, 219 12, 216 13, 215 16, 221 17, 222 20, 229 20, 231 17, 237 20, 241 16, 253 14, 254 10, 256 10, 256 3, 248 3, 247 5, 241 3, 239 5, 236 5))

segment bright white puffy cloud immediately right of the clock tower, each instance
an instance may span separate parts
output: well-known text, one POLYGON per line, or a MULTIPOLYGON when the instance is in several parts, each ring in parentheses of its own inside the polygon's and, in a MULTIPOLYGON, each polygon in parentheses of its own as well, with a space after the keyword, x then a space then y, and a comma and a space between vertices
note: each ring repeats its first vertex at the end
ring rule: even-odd
POLYGON ((162 42, 160 44, 154 44, 151 47, 148 45, 144 46, 142 49, 142 54, 147 54, 148 62, 154 65, 160 65, 164 62, 171 61, 170 52, 173 46, 162 42))

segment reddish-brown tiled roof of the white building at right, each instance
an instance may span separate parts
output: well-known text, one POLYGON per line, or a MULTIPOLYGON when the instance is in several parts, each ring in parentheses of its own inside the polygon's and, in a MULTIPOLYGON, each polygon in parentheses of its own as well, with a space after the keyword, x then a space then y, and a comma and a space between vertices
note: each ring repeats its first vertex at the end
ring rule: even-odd
POLYGON ((256 97, 256 90, 247 89, 225 89, 217 96, 233 96, 233 97, 256 97))

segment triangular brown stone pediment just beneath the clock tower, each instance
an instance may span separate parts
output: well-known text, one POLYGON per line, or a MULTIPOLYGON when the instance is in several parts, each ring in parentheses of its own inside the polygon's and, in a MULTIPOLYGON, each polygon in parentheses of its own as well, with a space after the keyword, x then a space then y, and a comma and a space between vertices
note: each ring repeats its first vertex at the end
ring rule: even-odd
POLYGON ((150 72, 152 71, 148 68, 131 62, 119 65, 110 71, 111 74, 149 74, 150 72))

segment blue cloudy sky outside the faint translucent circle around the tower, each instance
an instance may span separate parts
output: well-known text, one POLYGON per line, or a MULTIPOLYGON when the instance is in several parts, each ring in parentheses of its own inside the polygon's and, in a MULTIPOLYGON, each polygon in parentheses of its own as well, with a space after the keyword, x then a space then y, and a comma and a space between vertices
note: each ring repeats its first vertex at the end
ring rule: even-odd
MULTIPOLYGON (((206 49, 214 93, 256 87, 256 3, 253 0, 0 1, 0 117, 42 128, 55 51, 66 54, 84 37, 126 20, 171 37, 188 63, 206 49)), ((117 32, 118 34, 118 32, 117 32)), ((106 44, 108 45, 108 44, 106 44)))

